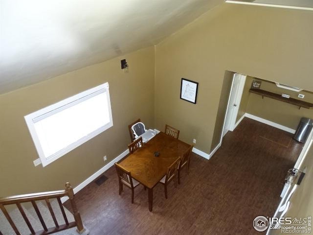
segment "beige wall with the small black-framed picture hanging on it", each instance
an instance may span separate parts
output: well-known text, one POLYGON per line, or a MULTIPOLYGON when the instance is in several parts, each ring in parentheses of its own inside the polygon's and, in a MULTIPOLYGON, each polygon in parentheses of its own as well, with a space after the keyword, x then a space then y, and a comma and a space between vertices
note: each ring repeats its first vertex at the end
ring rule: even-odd
POLYGON ((155 123, 209 152, 224 72, 313 90, 313 12, 224 3, 156 47, 155 123), (198 103, 179 99, 181 77, 199 82, 198 103))

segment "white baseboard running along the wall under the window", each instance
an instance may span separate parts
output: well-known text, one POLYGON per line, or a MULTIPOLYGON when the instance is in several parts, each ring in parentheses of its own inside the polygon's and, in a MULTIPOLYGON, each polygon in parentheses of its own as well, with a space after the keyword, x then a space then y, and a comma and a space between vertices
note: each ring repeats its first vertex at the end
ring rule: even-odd
MULTIPOLYGON (((103 166, 101 169, 93 173, 91 176, 89 176, 86 180, 84 180, 82 183, 80 183, 78 186, 76 186, 73 190, 74 193, 77 193, 84 187, 86 187, 88 184, 90 184, 92 181, 94 181, 96 178, 98 178, 101 174, 103 174, 105 171, 107 171, 114 163, 118 162, 122 158, 124 158, 127 154, 129 154, 129 150, 125 150, 120 155, 118 155, 116 158, 114 158, 110 163, 103 166)), ((68 200, 68 197, 62 197, 61 202, 64 203, 68 200)))

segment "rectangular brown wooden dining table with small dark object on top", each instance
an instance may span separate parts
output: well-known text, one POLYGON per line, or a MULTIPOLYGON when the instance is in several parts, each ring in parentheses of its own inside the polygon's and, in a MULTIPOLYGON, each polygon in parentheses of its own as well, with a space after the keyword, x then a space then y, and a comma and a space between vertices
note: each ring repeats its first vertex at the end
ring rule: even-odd
POLYGON ((166 175, 168 167, 190 146, 160 132, 119 163, 131 172, 136 181, 148 188, 149 211, 152 211, 153 188, 166 175))

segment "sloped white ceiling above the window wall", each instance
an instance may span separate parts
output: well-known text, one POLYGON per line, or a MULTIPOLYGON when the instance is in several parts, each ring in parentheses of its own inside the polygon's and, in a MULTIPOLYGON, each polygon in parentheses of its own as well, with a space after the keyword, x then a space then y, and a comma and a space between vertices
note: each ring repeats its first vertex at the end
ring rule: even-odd
POLYGON ((0 94, 153 46, 224 0, 0 0, 0 94))

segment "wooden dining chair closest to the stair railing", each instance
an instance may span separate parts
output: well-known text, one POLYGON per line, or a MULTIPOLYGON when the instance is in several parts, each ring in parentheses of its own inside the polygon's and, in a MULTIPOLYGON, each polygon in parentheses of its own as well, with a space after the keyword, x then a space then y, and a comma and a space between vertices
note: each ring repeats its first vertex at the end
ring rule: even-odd
POLYGON ((115 169, 118 176, 118 184, 119 184, 119 195, 121 195, 123 191, 123 184, 128 188, 132 189, 132 203, 134 203, 134 188, 137 187, 140 183, 132 178, 132 174, 130 171, 123 168, 121 165, 115 163, 115 169))

